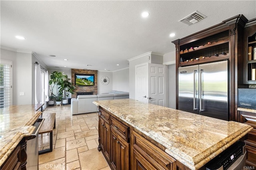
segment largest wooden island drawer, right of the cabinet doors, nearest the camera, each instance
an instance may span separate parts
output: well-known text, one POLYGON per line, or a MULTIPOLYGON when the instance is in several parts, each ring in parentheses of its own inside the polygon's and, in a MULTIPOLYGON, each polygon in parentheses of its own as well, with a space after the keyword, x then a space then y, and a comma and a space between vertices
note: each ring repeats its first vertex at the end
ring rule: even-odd
POLYGON ((163 150, 156 147, 154 144, 140 136, 136 132, 133 134, 133 149, 142 155, 147 162, 150 162, 150 166, 154 166, 156 169, 170 170, 175 169, 176 160, 170 155, 166 154, 163 150))

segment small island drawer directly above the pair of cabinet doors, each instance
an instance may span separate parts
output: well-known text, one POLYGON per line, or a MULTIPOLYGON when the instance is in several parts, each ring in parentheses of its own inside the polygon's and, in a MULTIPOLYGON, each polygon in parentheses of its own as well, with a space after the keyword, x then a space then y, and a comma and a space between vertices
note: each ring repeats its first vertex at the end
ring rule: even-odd
POLYGON ((129 127, 111 117, 111 129, 115 130, 124 140, 129 142, 129 127))

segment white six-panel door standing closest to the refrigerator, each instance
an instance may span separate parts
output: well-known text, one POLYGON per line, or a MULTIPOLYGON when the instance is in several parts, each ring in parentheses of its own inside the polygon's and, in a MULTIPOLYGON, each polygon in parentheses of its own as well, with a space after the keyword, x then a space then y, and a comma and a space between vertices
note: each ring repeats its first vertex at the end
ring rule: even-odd
POLYGON ((148 64, 148 103, 166 107, 166 65, 148 64))

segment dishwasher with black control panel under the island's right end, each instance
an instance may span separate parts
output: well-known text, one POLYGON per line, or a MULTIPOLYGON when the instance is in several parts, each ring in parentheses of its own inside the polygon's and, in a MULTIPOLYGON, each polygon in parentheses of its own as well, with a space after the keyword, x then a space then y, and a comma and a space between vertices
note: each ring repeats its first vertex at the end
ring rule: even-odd
POLYGON ((210 160, 206 170, 242 170, 246 160, 245 143, 237 141, 210 160))

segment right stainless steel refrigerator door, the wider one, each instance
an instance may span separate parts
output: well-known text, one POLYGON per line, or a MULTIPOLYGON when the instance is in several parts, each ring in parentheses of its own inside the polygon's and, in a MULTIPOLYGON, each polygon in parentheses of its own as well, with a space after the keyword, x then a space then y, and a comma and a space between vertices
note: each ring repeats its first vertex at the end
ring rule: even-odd
POLYGON ((199 114, 228 120, 228 61, 199 65, 199 114))

